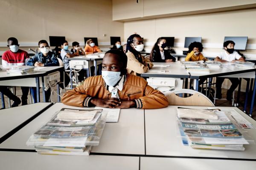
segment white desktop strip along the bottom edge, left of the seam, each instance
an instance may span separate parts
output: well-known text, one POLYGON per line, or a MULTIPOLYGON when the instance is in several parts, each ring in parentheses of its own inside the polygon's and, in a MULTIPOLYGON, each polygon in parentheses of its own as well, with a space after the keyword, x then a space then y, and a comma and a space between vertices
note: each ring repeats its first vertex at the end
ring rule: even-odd
POLYGON ((139 170, 139 157, 57 156, 0 151, 1 170, 139 170))

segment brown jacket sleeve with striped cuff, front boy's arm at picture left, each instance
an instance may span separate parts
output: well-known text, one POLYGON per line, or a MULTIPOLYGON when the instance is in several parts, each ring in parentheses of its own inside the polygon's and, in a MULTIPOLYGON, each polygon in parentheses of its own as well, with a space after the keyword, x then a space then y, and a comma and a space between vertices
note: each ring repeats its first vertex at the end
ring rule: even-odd
POLYGON ((73 90, 66 91, 61 98, 61 102, 70 106, 89 107, 92 97, 86 94, 86 86, 87 79, 84 81, 83 85, 73 90))

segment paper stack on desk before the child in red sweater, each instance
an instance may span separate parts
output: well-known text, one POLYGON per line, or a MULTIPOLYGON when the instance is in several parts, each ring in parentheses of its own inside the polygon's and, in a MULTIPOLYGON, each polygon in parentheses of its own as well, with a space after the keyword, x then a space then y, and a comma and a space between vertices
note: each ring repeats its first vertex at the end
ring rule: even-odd
POLYGON ((34 72, 34 66, 27 66, 27 65, 21 65, 21 66, 12 66, 7 69, 7 74, 9 75, 24 75, 24 74, 30 74, 34 72))

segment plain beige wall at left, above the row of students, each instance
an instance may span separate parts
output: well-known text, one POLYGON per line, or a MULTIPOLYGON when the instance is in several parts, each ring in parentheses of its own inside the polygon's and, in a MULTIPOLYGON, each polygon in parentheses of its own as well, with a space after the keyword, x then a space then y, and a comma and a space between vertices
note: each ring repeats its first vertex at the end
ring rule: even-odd
POLYGON ((124 23, 112 21, 112 0, 1 0, 0 21, 0 51, 9 37, 34 47, 49 35, 82 44, 83 37, 98 37, 99 45, 110 45, 110 36, 124 34, 124 23))

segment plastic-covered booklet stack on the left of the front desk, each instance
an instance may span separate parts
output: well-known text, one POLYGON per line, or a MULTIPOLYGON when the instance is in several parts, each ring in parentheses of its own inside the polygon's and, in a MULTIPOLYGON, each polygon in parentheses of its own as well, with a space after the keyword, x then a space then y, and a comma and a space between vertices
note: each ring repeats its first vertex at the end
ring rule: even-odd
POLYGON ((63 108, 26 142, 40 154, 89 156, 99 145, 107 113, 101 109, 63 108))

